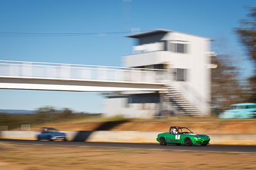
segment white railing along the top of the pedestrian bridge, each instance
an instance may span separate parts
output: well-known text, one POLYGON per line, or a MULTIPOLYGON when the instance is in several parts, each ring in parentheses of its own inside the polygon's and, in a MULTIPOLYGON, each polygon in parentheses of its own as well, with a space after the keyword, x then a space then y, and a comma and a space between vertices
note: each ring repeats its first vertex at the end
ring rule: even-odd
POLYGON ((23 62, 12 60, 0 60, 0 76, 58 80, 125 81, 131 83, 164 83, 164 81, 168 80, 168 72, 163 69, 23 62))

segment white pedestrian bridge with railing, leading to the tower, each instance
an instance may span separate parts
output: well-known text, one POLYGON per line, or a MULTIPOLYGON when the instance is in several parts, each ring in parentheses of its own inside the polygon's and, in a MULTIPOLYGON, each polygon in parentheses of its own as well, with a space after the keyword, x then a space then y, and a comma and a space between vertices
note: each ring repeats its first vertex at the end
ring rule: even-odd
POLYGON ((161 91, 167 70, 0 60, 0 89, 161 91))

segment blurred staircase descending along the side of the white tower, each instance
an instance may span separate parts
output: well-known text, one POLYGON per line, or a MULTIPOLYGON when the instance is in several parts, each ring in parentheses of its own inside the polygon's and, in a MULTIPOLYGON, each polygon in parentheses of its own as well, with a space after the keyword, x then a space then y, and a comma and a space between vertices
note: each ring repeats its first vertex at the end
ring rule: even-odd
POLYGON ((171 102, 175 108, 182 113, 182 115, 194 116, 194 117, 205 117, 209 114, 205 111, 200 110, 195 103, 190 101, 187 97, 184 96, 182 92, 175 89, 170 85, 166 85, 165 97, 168 102, 171 102))

